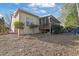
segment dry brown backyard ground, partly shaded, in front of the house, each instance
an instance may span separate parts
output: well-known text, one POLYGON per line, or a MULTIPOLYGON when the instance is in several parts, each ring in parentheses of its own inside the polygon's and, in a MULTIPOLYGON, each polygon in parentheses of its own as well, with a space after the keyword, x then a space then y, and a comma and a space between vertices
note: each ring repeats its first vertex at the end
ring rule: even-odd
POLYGON ((0 55, 4 56, 69 56, 79 55, 79 38, 64 33, 35 34, 17 38, 17 34, 0 35, 0 55))

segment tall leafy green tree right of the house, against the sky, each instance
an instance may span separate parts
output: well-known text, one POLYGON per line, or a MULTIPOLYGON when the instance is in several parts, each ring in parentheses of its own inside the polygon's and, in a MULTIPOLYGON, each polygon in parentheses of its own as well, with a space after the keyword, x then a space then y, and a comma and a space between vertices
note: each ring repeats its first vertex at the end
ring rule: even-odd
POLYGON ((65 27, 77 26, 77 7, 75 3, 66 3, 61 11, 61 18, 65 27))

